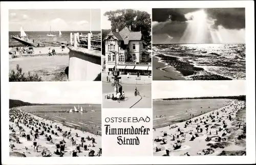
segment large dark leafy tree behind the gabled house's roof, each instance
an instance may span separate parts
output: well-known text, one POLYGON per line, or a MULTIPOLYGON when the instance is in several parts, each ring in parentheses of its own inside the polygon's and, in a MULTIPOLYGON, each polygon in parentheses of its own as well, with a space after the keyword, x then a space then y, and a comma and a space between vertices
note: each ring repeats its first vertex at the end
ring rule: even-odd
POLYGON ((147 44, 151 43, 151 15, 147 12, 133 9, 120 9, 105 12, 104 16, 107 16, 109 18, 108 20, 111 21, 112 31, 116 29, 120 31, 124 27, 131 26, 132 31, 141 31, 142 39, 147 44))

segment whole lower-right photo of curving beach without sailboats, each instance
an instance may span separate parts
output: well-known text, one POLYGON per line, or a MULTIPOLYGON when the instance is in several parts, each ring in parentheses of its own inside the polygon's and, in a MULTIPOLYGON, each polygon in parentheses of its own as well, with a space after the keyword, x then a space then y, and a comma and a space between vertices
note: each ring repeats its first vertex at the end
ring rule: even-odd
POLYGON ((245 81, 154 81, 153 155, 246 155, 245 81))

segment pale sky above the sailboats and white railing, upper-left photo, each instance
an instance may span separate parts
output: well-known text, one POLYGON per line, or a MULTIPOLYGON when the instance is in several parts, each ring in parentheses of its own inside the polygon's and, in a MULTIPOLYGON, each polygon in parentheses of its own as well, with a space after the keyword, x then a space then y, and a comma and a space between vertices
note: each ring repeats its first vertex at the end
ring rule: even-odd
MULTIPOLYGON (((92 31, 101 31, 100 9, 92 9, 92 31)), ((90 9, 9 10, 9 31, 90 31, 90 9)))

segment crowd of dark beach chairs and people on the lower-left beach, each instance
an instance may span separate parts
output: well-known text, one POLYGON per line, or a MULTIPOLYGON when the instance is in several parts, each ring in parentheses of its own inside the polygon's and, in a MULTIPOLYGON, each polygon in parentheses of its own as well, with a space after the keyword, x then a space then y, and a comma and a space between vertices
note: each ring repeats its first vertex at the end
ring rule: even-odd
MULTIPOLYGON (((67 155, 67 153, 65 153, 65 150, 67 149, 67 147, 65 147, 65 146, 67 146, 67 144, 69 144, 69 145, 72 144, 72 146, 75 147, 75 149, 71 151, 71 154, 73 156, 76 155, 77 153, 82 152, 80 150, 80 147, 84 148, 84 151, 88 151, 89 147, 96 147, 95 146, 95 144, 97 144, 96 139, 93 136, 89 137, 89 135, 88 135, 88 137, 86 137, 86 138, 81 137, 81 140, 79 140, 78 139, 79 136, 78 136, 77 132, 71 133, 72 129, 70 129, 70 131, 63 131, 61 126, 59 126, 59 127, 57 125, 54 126, 53 122, 50 122, 50 124, 49 124, 48 122, 45 122, 44 120, 39 121, 33 115, 26 113, 24 111, 21 111, 18 108, 10 109, 9 113, 10 113, 9 129, 13 134, 10 137, 10 139, 12 139, 13 142, 16 142, 17 144, 19 144, 19 137, 25 137, 25 138, 27 138, 28 141, 31 141, 34 139, 32 141, 34 152, 37 153, 37 152, 40 152, 40 150, 42 150, 41 155, 43 157, 49 157, 49 156, 53 156, 53 155, 58 155, 58 156, 62 157, 64 154, 67 155), (14 128, 14 127, 16 127, 16 128, 14 128), (63 138, 59 142, 56 142, 56 139, 57 139, 56 137, 61 136, 61 134, 58 135, 58 132, 62 133, 63 138), (32 137, 34 136, 34 137, 31 139, 31 136, 32 137), (46 144, 55 144, 56 151, 51 152, 51 151, 49 151, 49 149, 42 149, 41 148, 42 146, 38 144, 38 140, 37 140, 39 138, 39 136, 41 139, 45 137, 46 144), (66 142, 65 138, 71 140, 71 142, 66 142)), ((15 146, 13 144, 11 144, 10 147, 12 150, 15 150, 14 149, 15 146)), ((30 147, 25 146, 25 149, 26 149, 26 151, 28 151, 28 153, 29 153, 29 148, 30 147)), ((89 156, 95 156, 94 152, 95 151, 93 149, 91 149, 89 156)), ((97 156, 100 156, 100 155, 101 155, 101 153, 98 151, 97 156)))

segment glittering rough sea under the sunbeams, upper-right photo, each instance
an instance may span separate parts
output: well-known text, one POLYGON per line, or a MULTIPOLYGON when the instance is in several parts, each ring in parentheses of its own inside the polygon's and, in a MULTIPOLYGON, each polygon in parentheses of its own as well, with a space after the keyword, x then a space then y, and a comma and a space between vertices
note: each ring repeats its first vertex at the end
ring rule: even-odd
MULTIPOLYGON (((245 44, 153 44, 153 55, 176 57, 207 72, 245 80, 245 44)), ((169 63, 159 58, 159 61, 169 63)), ((164 72, 164 71, 163 71, 164 72)))

